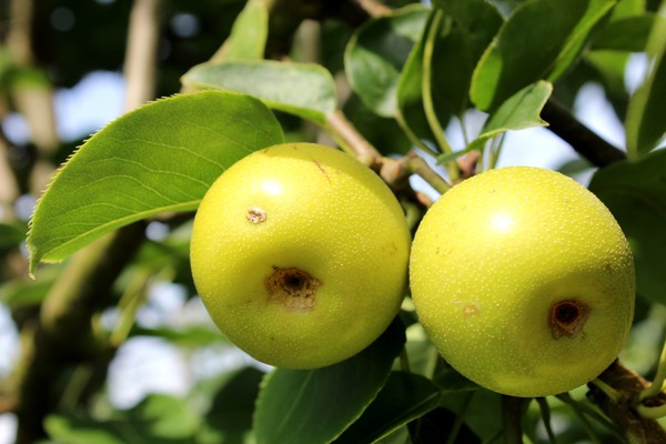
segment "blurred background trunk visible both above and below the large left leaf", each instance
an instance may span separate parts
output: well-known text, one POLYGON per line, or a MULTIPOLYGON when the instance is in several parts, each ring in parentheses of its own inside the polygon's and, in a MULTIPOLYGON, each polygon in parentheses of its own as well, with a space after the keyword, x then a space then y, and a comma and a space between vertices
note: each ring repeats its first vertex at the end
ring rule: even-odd
MULTIPOLYGON (((132 8, 125 60, 128 111, 153 98, 161 4, 162 0, 135 0, 132 8)), ((14 374, 17 444, 46 436, 43 421, 59 404, 67 370, 81 362, 108 367, 114 350, 95 340, 91 319, 109 304, 112 284, 144 233, 145 223, 138 222, 78 252, 47 295, 39 320, 23 327, 27 346, 14 374)))

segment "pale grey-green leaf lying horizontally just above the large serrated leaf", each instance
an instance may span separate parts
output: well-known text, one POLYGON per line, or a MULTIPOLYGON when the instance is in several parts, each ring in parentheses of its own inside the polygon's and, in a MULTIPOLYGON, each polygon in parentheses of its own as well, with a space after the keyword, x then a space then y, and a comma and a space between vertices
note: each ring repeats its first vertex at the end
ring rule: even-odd
POLYGON ((188 71, 182 82, 200 89, 243 92, 320 124, 336 108, 333 77, 319 64, 270 60, 204 63, 188 71))

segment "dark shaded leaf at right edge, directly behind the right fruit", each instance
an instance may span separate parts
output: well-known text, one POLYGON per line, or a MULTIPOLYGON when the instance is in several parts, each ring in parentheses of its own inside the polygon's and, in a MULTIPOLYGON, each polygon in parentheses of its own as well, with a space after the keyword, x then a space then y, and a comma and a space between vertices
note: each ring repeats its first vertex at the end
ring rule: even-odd
POLYGON ((638 294, 666 304, 666 150, 598 170, 589 190, 629 240, 638 294))

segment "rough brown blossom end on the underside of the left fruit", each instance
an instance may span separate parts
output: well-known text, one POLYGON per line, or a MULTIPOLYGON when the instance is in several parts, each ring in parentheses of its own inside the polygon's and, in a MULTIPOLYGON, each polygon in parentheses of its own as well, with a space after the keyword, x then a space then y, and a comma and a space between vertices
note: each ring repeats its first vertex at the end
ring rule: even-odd
POLYGON ((304 270, 273 266, 266 278, 269 301, 283 304, 290 310, 312 310, 316 304, 316 289, 323 282, 304 270))

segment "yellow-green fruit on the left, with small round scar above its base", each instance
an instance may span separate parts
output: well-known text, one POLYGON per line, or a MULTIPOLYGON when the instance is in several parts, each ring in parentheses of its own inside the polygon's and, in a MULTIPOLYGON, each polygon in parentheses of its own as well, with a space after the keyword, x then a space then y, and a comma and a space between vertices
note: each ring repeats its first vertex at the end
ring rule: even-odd
POLYGON ((248 155, 194 219, 192 274, 211 317, 264 363, 314 369, 370 345, 400 311, 411 235, 386 184, 332 148, 248 155))

